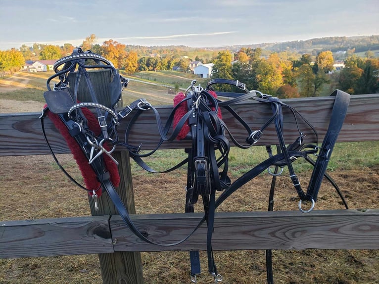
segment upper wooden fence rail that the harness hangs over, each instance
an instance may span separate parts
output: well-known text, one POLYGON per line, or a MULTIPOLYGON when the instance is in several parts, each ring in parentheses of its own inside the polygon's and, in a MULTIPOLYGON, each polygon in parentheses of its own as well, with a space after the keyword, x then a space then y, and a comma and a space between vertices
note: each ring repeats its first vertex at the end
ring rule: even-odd
MULTIPOLYGON (((332 112, 333 97, 284 99, 288 105, 297 109, 317 130, 319 141, 325 135, 332 112)), ((170 113, 172 106, 160 106, 158 111, 163 122, 170 113)), ((271 109, 268 105, 257 102, 237 104, 234 109, 249 124, 252 130, 258 130, 270 117, 271 109)), ((133 114, 122 120, 118 128, 120 140, 124 139, 124 132, 133 114)), ((42 136, 40 113, 1 114, 0 115, 0 156, 11 155, 38 155, 49 154, 42 136)), ((246 131, 237 124, 235 118, 223 112, 223 120, 228 125, 238 141, 243 142, 246 131)), ((305 142, 315 142, 310 129, 300 119, 300 129, 307 135, 305 142)), ((379 140, 379 94, 352 95, 345 122, 338 137, 338 142, 351 141, 378 141, 379 140)), ((67 153, 69 150, 61 135, 46 119, 47 136, 54 152, 67 153)), ((294 118, 290 111, 284 110, 285 141, 293 142, 298 132, 294 118)), ((156 122, 152 111, 144 111, 132 128, 130 141, 134 145, 142 143, 143 149, 154 148, 159 141, 156 122), (148 135, 146 135, 146 133, 148 135)), ((273 127, 265 130, 264 135, 257 144, 277 143, 273 127)), ((163 143, 163 148, 184 148, 189 142, 175 141, 163 143)), ((118 148, 122 150, 122 148, 118 148)))

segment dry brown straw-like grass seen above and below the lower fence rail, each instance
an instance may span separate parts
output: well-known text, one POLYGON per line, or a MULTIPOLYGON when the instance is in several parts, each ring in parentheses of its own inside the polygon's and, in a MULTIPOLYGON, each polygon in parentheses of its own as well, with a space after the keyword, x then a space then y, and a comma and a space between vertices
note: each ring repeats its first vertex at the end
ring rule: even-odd
MULTIPOLYGON (((76 164, 71 155, 59 155, 72 173, 76 164)), ((88 216, 87 195, 76 188, 57 169, 50 156, 1 157, 1 220, 24 220, 88 216)), ((143 174, 134 168, 137 213, 183 212, 185 171, 175 174, 143 174), (164 196, 165 206, 157 202, 164 196)), ((378 208, 379 173, 377 169, 356 169, 334 173, 351 208, 378 208), (370 196, 370 198, 367 198, 370 196)), ((77 178, 80 178, 77 176, 77 178)), ((308 174, 303 179, 309 178, 308 174)), ((267 175, 259 176, 237 190, 219 211, 264 211, 267 208, 267 175)), ((276 210, 296 210, 296 193, 281 177, 276 194, 276 210)), ((201 203, 201 202, 200 202, 201 203)), ((337 195, 325 183, 317 209, 342 209, 337 195)), ((197 206, 201 211, 201 205, 197 206)), ((206 254, 201 252, 202 275, 198 283, 210 283, 206 254)), ((265 283, 264 251, 216 251, 216 263, 224 284, 265 283)), ((276 283, 378 283, 379 253, 376 250, 303 250, 273 252, 276 283)), ((190 283, 189 257, 186 252, 142 253, 146 284, 190 283)), ((102 283, 96 255, 57 256, 0 260, 1 284, 26 283, 102 283)))

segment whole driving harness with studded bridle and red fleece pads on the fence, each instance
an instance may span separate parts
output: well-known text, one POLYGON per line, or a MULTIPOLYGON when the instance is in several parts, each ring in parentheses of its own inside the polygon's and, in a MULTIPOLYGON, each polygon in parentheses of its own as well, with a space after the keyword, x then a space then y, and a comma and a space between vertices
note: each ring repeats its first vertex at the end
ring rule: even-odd
MULTIPOLYGON (((304 143, 304 135, 299 129, 298 119, 303 120, 312 130, 316 141, 317 132, 297 110, 277 97, 262 94, 259 91, 248 91, 245 84, 239 81, 212 79, 205 88, 202 88, 200 85, 196 86, 196 81, 193 80, 185 92, 175 96, 173 109, 163 123, 156 108, 143 98, 118 111, 117 102, 120 100, 122 89, 127 87, 129 80, 122 77, 110 61, 90 50, 75 49, 71 55, 61 58, 54 64, 54 71, 55 74, 47 80, 47 92, 44 94, 47 105, 40 118, 47 146, 62 171, 70 180, 89 192, 89 195, 95 200, 95 207, 97 198, 101 193, 106 192, 130 230, 148 243, 159 246, 177 245, 187 240, 203 223, 206 223, 208 271, 213 276, 215 283, 222 281, 212 251, 215 211, 233 192, 263 171, 269 170, 273 176, 269 211, 273 210, 276 177, 281 174, 284 167, 288 168, 289 178, 299 196, 298 207, 301 212, 308 213, 313 210, 324 177, 332 183, 347 208, 340 190, 332 178, 326 174, 333 146, 348 108, 350 95, 347 93, 339 90, 332 93, 335 99, 330 125, 322 145, 318 146, 304 143), (96 89, 92 82, 92 76, 99 70, 105 72, 109 80, 104 80, 101 89, 96 89), (54 80, 58 83, 51 88, 50 84, 54 80), (234 86, 240 92, 215 91, 220 84, 234 86), (106 96, 103 94, 104 92, 107 93, 106 96), (83 101, 88 98, 83 97, 82 93, 89 94, 90 101, 83 101), (221 97, 224 99, 221 100, 221 97), (260 129, 252 130, 249 124, 233 109, 233 105, 246 100, 267 104, 272 109, 272 116, 260 129), (299 133, 298 138, 290 144, 286 144, 283 137, 283 108, 289 109, 293 114, 299 133), (90 111, 90 109, 94 111, 90 111), (221 109, 229 112, 245 129, 245 141, 239 142, 235 139, 222 120, 221 109), (154 113, 160 140, 153 150, 142 153, 143 143, 132 145, 129 142, 129 136, 134 122, 146 111, 154 113), (117 127, 123 118, 132 113, 133 116, 125 131, 124 141, 121 141, 117 127), (75 181, 56 159, 45 133, 44 118, 46 116, 66 140, 79 165, 86 186, 75 181), (273 154, 272 146, 267 145, 269 157, 232 182, 228 177, 230 142, 240 148, 249 148, 259 141, 269 125, 274 125, 276 129, 277 153, 273 154), (229 139, 226 137, 227 134, 229 139), (191 147, 185 149, 188 154, 185 160, 165 171, 156 171, 144 162, 143 158, 152 155, 163 142, 172 142, 176 139, 191 142, 191 147), (115 190, 120 178, 117 169, 118 162, 111 154, 116 146, 126 147, 131 158, 143 169, 152 173, 170 172, 187 164, 185 211, 194 212, 194 204, 198 201, 199 196, 202 198, 204 209, 203 218, 187 237, 169 244, 158 243, 146 237, 146 234, 133 224, 128 210, 115 190), (312 154, 317 155, 316 161, 310 158, 309 155, 312 154), (292 166, 292 163, 300 157, 314 166, 306 191, 302 189, 292 166), (271 170, 271 167, 275 167, 274 171, 271 170), (217 199, 216 191, 222 192, 217 199), (305 210, 302 207, 303 202, 310 202, 310 209, 305 210)), ((266 260, 267 281, 271 284, 273 283, 271 250, 266 250, 266 260)), ((200 273, 198 251, 190 251, 190 264, 191 282, 196 283, 196 276, 200 273)))

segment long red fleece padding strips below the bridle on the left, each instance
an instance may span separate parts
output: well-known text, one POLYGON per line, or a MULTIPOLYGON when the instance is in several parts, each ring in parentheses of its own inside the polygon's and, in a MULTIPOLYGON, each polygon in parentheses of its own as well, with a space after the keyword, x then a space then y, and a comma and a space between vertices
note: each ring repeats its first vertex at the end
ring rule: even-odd
MULTIPOLYGON (((95 135, 99 135, 100 127, 94 114, 87 108, 82 108, 82 112, 88 120, 88 127, 95 133, 95 135)), ((64 140, 67 142, 67 145, 70 148, 71 153, 74 156, 74 159, 82 173, 87 189, 98 189, 100 183, 97 181, 96 174, 92 169, 92 166, 88 163, 88 159, 83 153, 83 150, 79 146, 78 142, 76 142, 76 140, 69 134, 67 127, 60 120, 57 114, 48 111, 47 116, 63 136, 64 140)), ((108 145, 104 145, 104 148, 108 151, 110 149, 108 145)), ((112 182, 113 186, 117 187, 120 184, 120 175, 118 173, 117 165, 112 161, 110 157, 108 157, 108 155, 103 154, 102 157, 104 159, 105 168, 109 172, 110 181, 112 182)), ((97 196, 101 195, 101 191, 102 190, 96 191, 97 196)), ((89 194, 92 195, 92 192, 90 191, 89 194)))

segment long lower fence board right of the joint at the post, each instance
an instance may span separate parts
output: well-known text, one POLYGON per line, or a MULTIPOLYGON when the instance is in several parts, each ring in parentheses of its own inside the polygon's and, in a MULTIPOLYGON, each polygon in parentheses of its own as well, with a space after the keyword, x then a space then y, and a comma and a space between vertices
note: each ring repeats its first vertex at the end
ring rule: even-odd
MULTIPOLYGON (((201 219, 200 213, 133 216, 140 231, 158 243, 186 237, 201 219)), ((163 247, 136 237, 120 220, 111 218, 115 250, 205 250, 203 224, 182 244, 163 247)), ((250 249, 379 249, 379 210, 315 210, 216 213, 212 247, 215 250, 250 249)))

